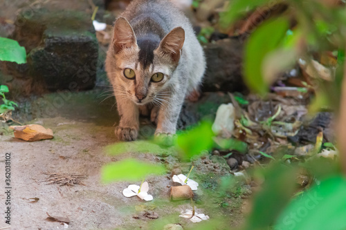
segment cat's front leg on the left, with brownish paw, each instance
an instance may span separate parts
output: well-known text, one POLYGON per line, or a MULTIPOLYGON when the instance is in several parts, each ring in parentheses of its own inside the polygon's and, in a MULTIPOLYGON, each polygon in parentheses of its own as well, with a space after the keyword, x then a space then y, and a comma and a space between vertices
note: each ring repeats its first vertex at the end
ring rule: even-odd
POLYGON ((139 129, 138 107, 131 100, 118 97, 116 97, 116 102, 120 116, 120 122, 115 131, 116 137, 121 141, 134 141, 138 137, 139 129))

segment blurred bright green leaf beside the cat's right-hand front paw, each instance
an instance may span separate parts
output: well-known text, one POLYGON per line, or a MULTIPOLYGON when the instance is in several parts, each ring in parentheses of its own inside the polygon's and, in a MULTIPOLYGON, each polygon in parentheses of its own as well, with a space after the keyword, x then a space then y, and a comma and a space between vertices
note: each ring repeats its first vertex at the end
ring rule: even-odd
POLYGON ((176 147, 179 148, 183 160, 190 160, 194 155, 210 150, 213 146, 212 124, 202 122, 190 131, 183 132, 176 137, 176 147))

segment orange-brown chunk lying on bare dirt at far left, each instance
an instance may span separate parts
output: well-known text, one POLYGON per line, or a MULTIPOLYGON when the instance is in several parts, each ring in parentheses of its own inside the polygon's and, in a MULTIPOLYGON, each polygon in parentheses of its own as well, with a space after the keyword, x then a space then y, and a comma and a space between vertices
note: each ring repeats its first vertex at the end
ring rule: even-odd
POLYGON ((28 124, 26 126, 10 126, 15 131, 15 137, 27 142, 36 142, 53 138, 51 128, 44 128, 39 124, 28 124))

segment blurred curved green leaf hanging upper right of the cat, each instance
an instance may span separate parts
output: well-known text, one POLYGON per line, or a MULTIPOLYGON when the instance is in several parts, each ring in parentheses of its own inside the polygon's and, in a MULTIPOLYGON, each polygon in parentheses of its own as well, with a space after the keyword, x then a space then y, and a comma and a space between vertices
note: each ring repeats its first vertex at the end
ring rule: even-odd
POLYGON ((262 63, 286 35, 289 22, 284 18, 267 21, 249 37, 244 55, 244 80, 251 90, 264 95, 268 84, 262 75, 262 63))

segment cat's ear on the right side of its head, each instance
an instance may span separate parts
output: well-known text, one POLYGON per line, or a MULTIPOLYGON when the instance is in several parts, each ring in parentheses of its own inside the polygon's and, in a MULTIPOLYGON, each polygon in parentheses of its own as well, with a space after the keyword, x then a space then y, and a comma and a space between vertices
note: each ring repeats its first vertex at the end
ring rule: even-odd
POLYGON ((159 50, 166 55, 170 55, 172 60, 179 62, 181 49, 185 41, 185 30, 181 27, 174 28, 160 42, 159 50))

